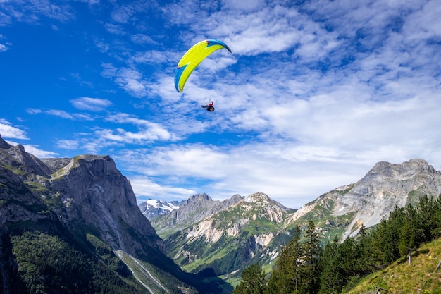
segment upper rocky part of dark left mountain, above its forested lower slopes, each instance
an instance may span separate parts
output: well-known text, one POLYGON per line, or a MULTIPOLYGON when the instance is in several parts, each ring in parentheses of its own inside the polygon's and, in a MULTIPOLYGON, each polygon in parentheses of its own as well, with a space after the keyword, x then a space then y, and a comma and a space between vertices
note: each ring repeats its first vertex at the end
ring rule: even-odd
POLYGON ((163 240, 140 212, 130 182, 108 156, 43 159, 0 137, 0 225, 56 219, 62 226, 93 230, 113 250, 136 256, 143 245, 163 252, 163 240), (51 209, 47 201, 50 200, 51 209))

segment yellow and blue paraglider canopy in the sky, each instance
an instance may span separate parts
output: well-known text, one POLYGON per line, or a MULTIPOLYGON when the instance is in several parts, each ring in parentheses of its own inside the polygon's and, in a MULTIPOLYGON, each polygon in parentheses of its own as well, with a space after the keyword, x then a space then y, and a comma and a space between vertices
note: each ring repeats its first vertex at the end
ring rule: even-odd
POLYGON ((187 52, 180 59, 178 66, 175 71, 175 88, 176 91, 182 92, 184 90, 185 82, 194 71, 199 63, 201 63, 207 56, 212 54, 214 51, 219 49, 227 49, 231 53, 230 47, 228 47, 224 42, 217 39, 206 39, 193 47, 188 49, 187 52))

